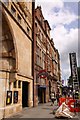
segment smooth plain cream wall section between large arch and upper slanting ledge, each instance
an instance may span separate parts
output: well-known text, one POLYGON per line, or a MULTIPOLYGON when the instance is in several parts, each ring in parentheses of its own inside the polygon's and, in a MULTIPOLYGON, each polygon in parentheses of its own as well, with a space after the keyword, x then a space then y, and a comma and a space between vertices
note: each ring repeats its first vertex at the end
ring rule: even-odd
MULTIPOLYGON (((7 14, 7 13, 6 13, 7 14)), ((32 76, 32 41, 19 28, 14 20, 7 14, 13 30, 16 45, 18 71, 22 75, 32 76)))

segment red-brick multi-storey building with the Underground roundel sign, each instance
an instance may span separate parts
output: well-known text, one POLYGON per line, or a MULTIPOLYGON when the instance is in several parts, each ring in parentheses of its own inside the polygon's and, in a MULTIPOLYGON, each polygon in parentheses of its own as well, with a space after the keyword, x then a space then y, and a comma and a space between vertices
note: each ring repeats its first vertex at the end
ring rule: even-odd
POLYGON ((38 103, 48 102, 51 92, 56 94, 60 91, 61 73, 59 52, 50 38, 51 28, 44 19, 41 6, 35 9, 34 28, 33 84, 34 106, 37 106, 38 103))

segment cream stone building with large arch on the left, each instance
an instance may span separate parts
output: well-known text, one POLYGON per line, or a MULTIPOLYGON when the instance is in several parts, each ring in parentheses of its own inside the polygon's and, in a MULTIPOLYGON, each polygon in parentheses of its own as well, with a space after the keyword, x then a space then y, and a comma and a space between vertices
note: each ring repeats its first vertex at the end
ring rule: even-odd
POLYGON ((33 106, 32 2, 0 2, 0 119, 33 106))

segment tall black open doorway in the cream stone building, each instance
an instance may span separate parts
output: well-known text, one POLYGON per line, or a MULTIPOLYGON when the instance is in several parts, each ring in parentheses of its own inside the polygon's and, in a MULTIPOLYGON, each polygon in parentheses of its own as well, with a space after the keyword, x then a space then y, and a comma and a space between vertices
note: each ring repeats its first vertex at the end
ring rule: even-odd
POLYGON ((28 107, 28 82, 22 82, 22 107, 28 107))

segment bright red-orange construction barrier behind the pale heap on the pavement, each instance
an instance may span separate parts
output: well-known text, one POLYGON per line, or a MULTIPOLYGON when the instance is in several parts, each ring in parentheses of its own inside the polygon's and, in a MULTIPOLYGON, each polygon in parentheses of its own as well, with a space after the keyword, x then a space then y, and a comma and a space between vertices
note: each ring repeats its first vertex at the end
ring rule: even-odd
POLYGON ((80 106, 77 106, 77 100, 73 99, 72 97, 59 98, 59 106, 61 106, 63 102, 68 105, 71 112, 80 112, 80 106))

